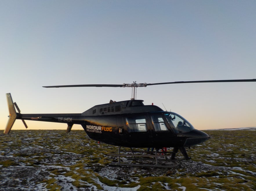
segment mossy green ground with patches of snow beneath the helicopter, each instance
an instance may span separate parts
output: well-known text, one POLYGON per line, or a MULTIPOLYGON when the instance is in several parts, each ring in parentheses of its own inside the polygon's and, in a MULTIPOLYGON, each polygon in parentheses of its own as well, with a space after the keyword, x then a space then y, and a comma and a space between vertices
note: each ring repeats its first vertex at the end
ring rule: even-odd
POLYGON ((166 169, 108 166, 117 147, 82 130, 13 130, 0 135, 0 190, 256 190, 256 131, 205 132, 166 169))

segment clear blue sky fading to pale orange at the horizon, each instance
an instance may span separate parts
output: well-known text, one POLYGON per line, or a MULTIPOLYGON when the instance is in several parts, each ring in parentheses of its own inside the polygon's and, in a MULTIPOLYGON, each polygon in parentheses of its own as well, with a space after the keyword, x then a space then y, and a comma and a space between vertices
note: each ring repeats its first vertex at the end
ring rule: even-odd
MULTIPOLYGON (((132 88, 42 86, 255 79, 255 9, 250 0, 0 0, 0 130, 6 93, 24 114, 82 113, 129 100, 132 88)), ((239 82, 140 87, 136 98, 207 130, 255 127, 255 95, 256 82, 239 82)))

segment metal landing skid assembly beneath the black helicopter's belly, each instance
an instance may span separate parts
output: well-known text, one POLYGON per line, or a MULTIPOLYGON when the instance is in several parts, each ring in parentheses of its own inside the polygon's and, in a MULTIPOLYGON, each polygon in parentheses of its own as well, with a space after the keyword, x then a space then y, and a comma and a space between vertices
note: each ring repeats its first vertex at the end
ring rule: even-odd
POLYGON ((173 165, 167 165, 167 164, 159 164, 159 161, 171 161, 171 162, 179 162, 181 160, 184 160, 185 158, 181 159, 175 159, 171 160, 168 158, 170 154, 167 155, 167 153, 172 152, 158 152, 157 149, 155 151, 155 154, 152 154, 150 151, 133 151, 132 148, 130 148, 131 151, 123 151, 123 152, 131 152, 132 154, 120 154, 121 147, 118 148, 118 154, 110 153, 109 156, 117 156, 118 162, 111 162, 111 166, 144 166, 144 167, 157 167, 157 168, 173 168, 177 167, 180 164, 173 164, 173 165), (139 154, 135 154, 139 153, 139 154), (146 154, 141 154, 146 153, 146 154), (148 160, 152 161, 155 160, 155 164, 135 164, 135 163, 123 163, 121 162, 120 157, 126 157, 127 160, 148 160))

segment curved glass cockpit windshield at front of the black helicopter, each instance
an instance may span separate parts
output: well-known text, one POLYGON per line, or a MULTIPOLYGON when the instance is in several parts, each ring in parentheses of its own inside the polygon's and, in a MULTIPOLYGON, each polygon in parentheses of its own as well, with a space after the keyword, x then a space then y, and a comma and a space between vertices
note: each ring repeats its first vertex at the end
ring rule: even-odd
POLYGON ((174 133, 185 133, 195 129, 186 119, 173 112, 166 112, 165 117, 174 133))

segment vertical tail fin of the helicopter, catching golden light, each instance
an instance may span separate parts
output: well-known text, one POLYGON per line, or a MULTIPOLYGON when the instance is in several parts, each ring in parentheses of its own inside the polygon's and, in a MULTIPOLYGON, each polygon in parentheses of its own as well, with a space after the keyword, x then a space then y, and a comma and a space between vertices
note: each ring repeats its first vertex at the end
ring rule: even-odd
POLYGON ((8 108, 9 108, 9 120, 8 120, 8 123, 7 123, 6 128, 5 128, 3 133, 9 134, 9 132, 10 132, 10 130, 11 130, 13 124, 14 124, 14 121, 17 118, 17 113, 16 113, 16 110, 14 108, 14 104, 13 104, 13 101, 12 101, 11 94, 6 93, 6 98, 7 98, 8 108))

